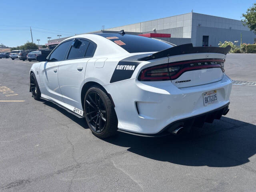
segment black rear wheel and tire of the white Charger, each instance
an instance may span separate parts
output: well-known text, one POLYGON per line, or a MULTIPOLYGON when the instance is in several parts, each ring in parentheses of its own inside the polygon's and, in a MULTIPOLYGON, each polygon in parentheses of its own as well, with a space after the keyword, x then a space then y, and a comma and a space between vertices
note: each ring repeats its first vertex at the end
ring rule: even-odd
POLYGON ((96 137, 107 138, 116 134, 118 119, 114 105, 100 86, 92 86, 86 92, 84 116, 88 127, 96 137))

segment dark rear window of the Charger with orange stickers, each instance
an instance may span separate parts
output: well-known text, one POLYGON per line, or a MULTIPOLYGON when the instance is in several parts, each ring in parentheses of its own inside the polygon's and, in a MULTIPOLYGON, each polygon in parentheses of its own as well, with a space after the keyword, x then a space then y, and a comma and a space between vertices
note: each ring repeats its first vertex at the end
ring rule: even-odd
POLYGON ((99 34, 107 38, 108 40, 116 43, 129 53, 138 53, 138 52, 158 52, 164 49, 173 47, 171 44, 166 42, 142 37, 137 35, 128 35, 128 34, 99 34))

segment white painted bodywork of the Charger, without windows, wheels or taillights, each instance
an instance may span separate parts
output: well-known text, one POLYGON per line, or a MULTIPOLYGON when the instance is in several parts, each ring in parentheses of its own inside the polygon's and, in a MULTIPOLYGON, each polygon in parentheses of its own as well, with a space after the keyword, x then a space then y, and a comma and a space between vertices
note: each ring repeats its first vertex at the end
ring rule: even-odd
POLYGON ((225 59, 224 54, 182 54, 141 61, 130 78, 111 82, 120 61, 145 53, 129 53, 95 34, 68 39, 73 38, 87 38, 95 42, 97 48, 94 56, 60 62, 39 62, 32 65, 30 72, 36 74, 42 98, 56 102, 80 116, 84 116, 81 114, 81 92, 88 82, 100 84, 112 97, 118 128, 140 134, 156 134, 176 120, 204 114, 229 103, 232 80, 220 68, 187 71, 175 80, 138 80, 140 72, 151 66, 184 60, 225 59), (57 72, 54 72, 56 68, 57 72), (191 81, 176 83, 182 80, 191 81), (202 94, 212 90, 217 90, 218 102, 204 106, 202 94))

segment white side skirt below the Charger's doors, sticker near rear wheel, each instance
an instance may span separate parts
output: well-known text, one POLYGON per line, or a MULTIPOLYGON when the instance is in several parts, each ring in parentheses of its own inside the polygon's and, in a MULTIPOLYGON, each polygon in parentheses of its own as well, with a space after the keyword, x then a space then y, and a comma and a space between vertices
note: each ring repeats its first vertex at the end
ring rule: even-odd
POLYGON ((64 103, 64 102, 62 102, 62 101, 59 101, 59 100, 54 99, 54 98, 52 98, 52 97, 49 97, 49 96, 47 96, 47 95, 45 95, 45 94, 41 94, 41 98, 43 98, 43 99, 45 99, 45 100, 48 100, 48 101, 50 101, 50 102, 53 102, 54 104, 56 104, 56 105, 58 105, 59 107, 65 109, 66 111, 68 111, 68 112, 70 112, 70 113, 76 115, 76 116, 79 117, 79 118, 84 117, 84 111, 83 111, 83 110, 80 110, 80 109, 78 109, 78 108, 75 108, 74 106, 71 106, 71 105, 66 104, 66 103, 64 103))

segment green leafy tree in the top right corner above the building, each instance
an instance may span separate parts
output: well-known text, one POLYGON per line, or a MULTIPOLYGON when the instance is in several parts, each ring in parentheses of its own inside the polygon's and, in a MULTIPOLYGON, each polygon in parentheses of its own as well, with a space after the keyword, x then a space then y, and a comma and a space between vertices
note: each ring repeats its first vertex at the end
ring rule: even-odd
POLYGON ((242 22, 244 26, 248 26, 248 28, 256 34, 256 3, 254 3, 245 14, 242 14, 243 18, 242 22))

